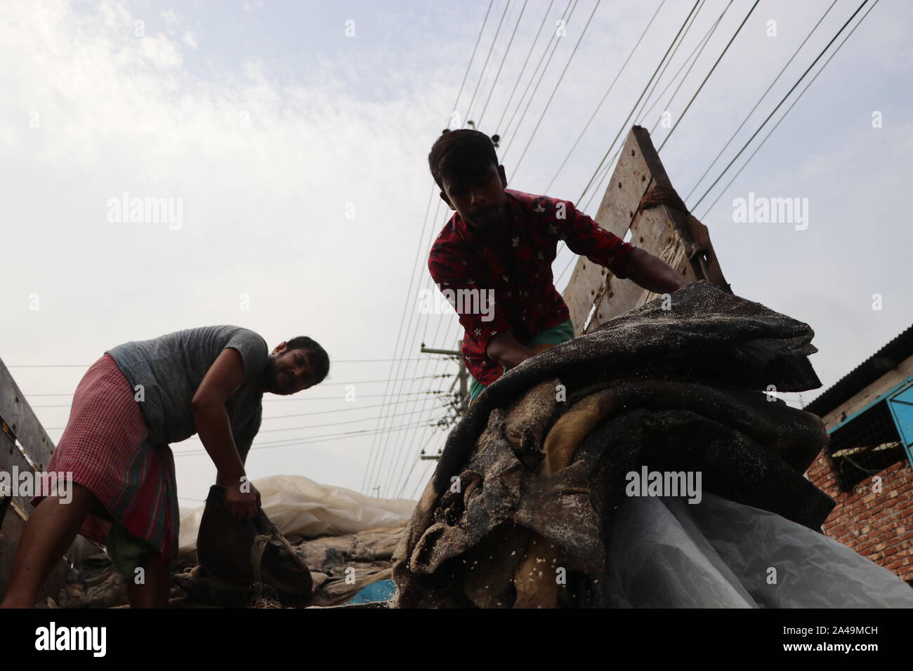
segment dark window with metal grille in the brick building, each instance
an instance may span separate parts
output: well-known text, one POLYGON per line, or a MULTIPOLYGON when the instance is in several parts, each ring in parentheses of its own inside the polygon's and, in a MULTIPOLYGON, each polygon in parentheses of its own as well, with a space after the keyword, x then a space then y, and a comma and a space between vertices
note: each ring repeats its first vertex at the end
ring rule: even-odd
POLYGON ((872 405, 834 429, 827 449, 842 491, 852 490, 866 477, 906 458, 887 401, 872 405))

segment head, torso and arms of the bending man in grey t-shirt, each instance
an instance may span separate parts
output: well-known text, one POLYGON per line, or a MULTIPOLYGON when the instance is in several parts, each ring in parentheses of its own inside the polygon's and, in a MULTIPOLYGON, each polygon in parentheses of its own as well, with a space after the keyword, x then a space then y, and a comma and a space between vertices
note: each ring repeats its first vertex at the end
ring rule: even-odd
POLYGON ((238 326, 179 330, 106 353, 131 383, 153 443, 200 435, 218 468, 216 482, 226 485, 226 508, 240 518, 257 515, 256 488, 238 487, 260 428, 263 393, 299 392, 330 368, 326 351, 310 338, 282 342, 270 353, 259 334, 238 326))

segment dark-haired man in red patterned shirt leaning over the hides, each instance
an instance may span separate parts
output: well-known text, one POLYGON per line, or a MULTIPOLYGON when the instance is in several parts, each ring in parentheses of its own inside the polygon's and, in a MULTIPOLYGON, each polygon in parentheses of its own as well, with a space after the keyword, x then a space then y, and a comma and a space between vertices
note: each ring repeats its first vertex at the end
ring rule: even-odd
POLYGON ((671 293, 685 283, 665 261, 600 228, 569 201, 509 190, 485 133, 446 131, 428 164, 441 198, 456 210, 431 247, 428 269, 466 329, 471 399, 529 359, 536 345, 573 338, 551 276, 559 240, 650 291, 671 293))

